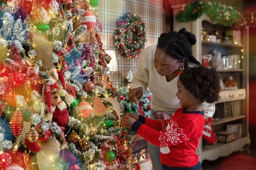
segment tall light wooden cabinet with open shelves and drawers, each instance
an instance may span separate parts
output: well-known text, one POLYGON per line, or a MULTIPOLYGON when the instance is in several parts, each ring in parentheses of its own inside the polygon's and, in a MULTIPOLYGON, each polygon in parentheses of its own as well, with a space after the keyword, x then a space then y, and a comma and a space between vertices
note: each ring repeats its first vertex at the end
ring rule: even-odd
MULTIPOLYGON (((192 46, 192 54, 199 61, 202 61, 202 55, 207 54, 208 51, 217 49, 222 54, 234 55, 237 54, 239 58, 239 67, 237 69, 226 68, 217 70, 221 78, 233 76, 237 82, 237 90, 221 91, 219 94, 219 100, 217 105, 224 102, 233 102, 234 109, 237 114, 233 114, 231 117, 226 117, 213 122, 213 129, 215 133, 226 130, 228 124, 241 123, 242 124, 242 138, 236 139, 233 142, 227 144, 216 143, 213 145, 204 144, 201 138, 198 146, 199 161, 215 160, 221 156, 228 156, 235 151, 241 150, 246 145, 250 145, 250 138, 248 133, 248 94, 249 94, 249 29, 243 28, 241 30, 242 39, 241 44, 225 44, 218 42, 209 42, 201 40, 201 30, 206 27, 207 31, 218 30, 220 32, 230 31, 231 27, 221 26, 212 22, 207 16, 202 16, 195 21, 188 23, 180 23, 176 20, 175 16, 183 8, 183 5, 172 6, 174 11, 174 24, 173 30, 179 31, 181 28, 186 28, 187 31, 195 34, 196 44, 192 46)), ((221 33, 220 33, 221 34, 221 33)), ((235 68, 235 67, 234 67, 235 68)), ((248 147, 245 147, 248 148, 248 147)))

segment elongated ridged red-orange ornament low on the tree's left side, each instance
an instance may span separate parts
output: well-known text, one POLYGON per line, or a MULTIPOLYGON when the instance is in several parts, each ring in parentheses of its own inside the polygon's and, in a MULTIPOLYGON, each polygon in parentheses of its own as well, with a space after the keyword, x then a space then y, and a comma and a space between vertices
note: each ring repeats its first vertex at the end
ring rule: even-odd
POLYGON ((10 127, 12 134, 18 137, 23 129, 23 114, 20 111, 13 113, 10 127))

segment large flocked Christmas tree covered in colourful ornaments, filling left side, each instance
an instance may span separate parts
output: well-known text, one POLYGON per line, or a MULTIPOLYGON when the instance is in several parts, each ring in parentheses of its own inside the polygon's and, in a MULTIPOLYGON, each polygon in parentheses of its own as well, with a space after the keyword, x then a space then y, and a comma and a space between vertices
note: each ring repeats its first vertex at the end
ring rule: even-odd
POLYGON ((0 2, 0 169, 132 169, 98 5, 0 2))

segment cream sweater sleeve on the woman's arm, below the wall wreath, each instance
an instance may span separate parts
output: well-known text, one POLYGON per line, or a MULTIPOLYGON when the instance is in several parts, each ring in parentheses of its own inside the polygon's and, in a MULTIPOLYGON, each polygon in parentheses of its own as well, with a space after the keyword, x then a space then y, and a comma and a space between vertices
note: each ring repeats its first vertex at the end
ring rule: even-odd
POLYGON ((150 48, 151 48, 151 46, 149 46, 148 48, 145 48, 141 52, 139 65, 137 67, 137 70, 136 70, 136 73, 134 74, 133 79, 131 80, 132 87, 133 88, 142 87, 143 93, 145 93, 145 91, 148 89, 148 78, 149 78, 148 60, 149 60, 150 48))

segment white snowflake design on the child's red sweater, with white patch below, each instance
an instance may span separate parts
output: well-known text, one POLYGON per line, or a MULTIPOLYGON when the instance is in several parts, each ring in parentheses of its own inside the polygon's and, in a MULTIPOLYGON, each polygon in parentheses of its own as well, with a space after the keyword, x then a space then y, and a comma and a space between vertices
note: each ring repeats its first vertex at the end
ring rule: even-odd
POLYGON ((186 134, 183 133, 183 128, 178 127, 177 122, 173 122, 172 120, 169 122, 168 126, 166 127, 166 132, 160 132, 161 136, 159 138, 160 144, 160 151, 161 153, 169 153, 168 143, 171 142, 173 145, 179 144, 183 141, 188 141, 189 139, 186 138, 186 134))

